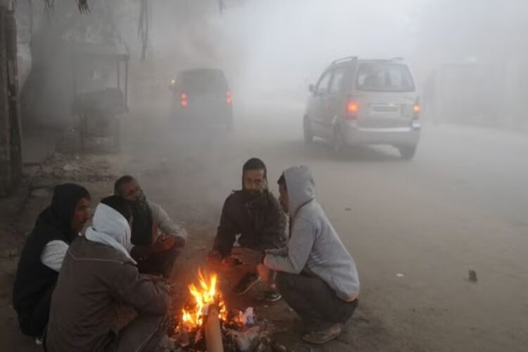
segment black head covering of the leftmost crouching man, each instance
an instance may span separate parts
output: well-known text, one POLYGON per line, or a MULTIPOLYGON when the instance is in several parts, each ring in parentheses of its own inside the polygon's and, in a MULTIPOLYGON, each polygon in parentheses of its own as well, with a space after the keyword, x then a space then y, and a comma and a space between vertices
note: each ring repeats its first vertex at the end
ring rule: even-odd
POLYGON ((49 212, 68 241, 73 241, 78 235, 71 228, 71 223, 77 202, 83 198, 90 199, 90 194, 87 189, 78 184, 65 183, 55 187, 49 212))

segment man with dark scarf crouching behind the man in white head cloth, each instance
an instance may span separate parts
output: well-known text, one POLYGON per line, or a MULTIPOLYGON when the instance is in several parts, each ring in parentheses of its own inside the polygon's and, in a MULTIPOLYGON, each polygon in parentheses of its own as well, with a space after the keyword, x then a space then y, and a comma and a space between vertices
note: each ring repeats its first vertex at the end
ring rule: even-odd
POLYGON ((169 215, 146 199, 137 180, 122 176, 114 184, 114 194, 132 207, 132 258, 139 272, 170 277, 172 266, 187 241, 183 227, 170 220, 169 215))

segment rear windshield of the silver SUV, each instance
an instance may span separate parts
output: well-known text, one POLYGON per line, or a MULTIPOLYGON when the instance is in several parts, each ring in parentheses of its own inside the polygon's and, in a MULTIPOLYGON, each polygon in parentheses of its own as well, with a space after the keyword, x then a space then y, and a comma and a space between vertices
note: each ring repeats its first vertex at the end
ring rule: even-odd
POLYGON ((415 90, 409 68, 401 63, 361 63, 356 86, 358 90, 371 92, 413 92, 415 90))

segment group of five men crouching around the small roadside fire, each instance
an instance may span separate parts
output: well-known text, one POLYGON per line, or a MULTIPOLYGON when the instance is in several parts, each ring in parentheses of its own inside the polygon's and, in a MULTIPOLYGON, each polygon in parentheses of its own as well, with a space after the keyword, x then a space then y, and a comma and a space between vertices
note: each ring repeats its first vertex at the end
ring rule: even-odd
MULTIPOLYGON (((265 282, 265 301, 283 299, 303 320, 303 340, 325 344, 358 306, 356 264, 315 198, 310 170, 288 168, 277 183, 278 200, 263 161, 244 164, 207 263, 239 274, 232 294, 265 282)), ((13 287, 20 330, 49 352, 156 351, 170 328, 170 278, 187 231, 131 176, 93 217, 91 203, 84 187, 60 184, 38 216, 13 287), (137 313, 125 326, 123 306, 137 313)))

